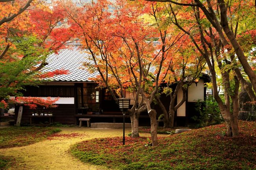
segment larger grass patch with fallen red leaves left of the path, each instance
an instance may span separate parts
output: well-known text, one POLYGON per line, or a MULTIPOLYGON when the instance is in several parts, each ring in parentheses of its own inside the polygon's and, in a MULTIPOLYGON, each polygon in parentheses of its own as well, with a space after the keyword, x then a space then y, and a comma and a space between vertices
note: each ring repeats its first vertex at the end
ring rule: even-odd
POLYGON ((0 148, 26 146, 61 131, 53 127, 7 127, 0 129, 0 148))

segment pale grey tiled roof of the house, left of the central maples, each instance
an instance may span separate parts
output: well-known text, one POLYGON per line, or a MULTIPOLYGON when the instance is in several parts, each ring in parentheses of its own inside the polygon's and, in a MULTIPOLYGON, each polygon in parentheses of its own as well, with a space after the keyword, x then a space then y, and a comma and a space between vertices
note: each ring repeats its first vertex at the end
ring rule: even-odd
POLYGON ((97 70, 94 73, 88 71, 83 63, 94 64, 91 55, 86 50, 80 50, 77 47, 60 50, 58 54, 51 54, 46 61, 49 63, 42 71, 50 72, 54 70, 69 70, 69 74, 47 78, 50 81, 91 81, 98 75, 97 70))

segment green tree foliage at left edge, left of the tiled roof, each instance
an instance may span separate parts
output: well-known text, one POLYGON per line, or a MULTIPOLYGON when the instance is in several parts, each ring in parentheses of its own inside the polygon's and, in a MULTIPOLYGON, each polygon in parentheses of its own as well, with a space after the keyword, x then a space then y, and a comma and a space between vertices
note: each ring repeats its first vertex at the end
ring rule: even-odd
POLYGON ((0 99, 8 98, 9 95, 21 96, 18 91, 23 85, 39 83, 39 79, 35 78, 37 72, 32 71, 33 67, 49 54, 43 47, 37 46, 39 43, 39 39, 33 36, 13 38, 15 48, 11 47, 9 56, 0 62, 0 99), (23 56, 22 59, 20 56, 23 56))

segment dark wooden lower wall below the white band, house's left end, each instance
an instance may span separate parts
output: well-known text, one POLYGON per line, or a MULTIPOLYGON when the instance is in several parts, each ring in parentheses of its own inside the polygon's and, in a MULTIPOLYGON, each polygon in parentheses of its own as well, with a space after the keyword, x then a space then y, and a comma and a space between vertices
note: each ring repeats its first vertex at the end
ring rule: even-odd
MULTIPOLYGON (((17 119, 19 106, 15 107, 15 122, 17 119)), ((56 108, 42 109, 38 108, 36 110, 29 109, 29 107, 23 107, 21 123, 30 123, 30 118, 28 116, 32 113, 48 113, 52 112, 54 115, 53 121, 59 122, 61 124, 74 124, 75 123, 75 105, 74 104, 58 104, 56 108)), ((34 123, 49 121, 49 118, 33 118, 34 123)))

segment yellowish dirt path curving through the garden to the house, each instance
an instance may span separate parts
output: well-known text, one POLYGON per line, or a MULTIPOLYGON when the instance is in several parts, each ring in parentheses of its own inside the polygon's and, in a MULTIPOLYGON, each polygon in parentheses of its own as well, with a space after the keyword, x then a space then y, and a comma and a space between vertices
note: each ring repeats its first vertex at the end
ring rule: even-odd
MULTIPOLYGON (((70 145, 98 137, 122 136, 122 129, 88 127, 61 127, 60 129, 62 130, 60 134, 80 133, 82 136, 69 139, 62 137, 44 140, 29 146, 2 149, 0 154, 13 156, 17 161, 17 165, 9 170, 104 170, 106 168, 102 166, 84 164, 72 157, 68 153, 70 145)), ((129 133, 130 129, 126 129, 126 132, 129 133)), ((141 135, 149 136, 150 134, 141 135)))

